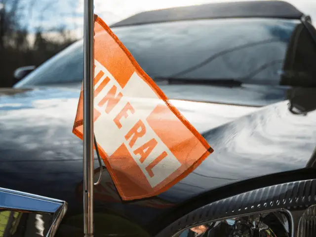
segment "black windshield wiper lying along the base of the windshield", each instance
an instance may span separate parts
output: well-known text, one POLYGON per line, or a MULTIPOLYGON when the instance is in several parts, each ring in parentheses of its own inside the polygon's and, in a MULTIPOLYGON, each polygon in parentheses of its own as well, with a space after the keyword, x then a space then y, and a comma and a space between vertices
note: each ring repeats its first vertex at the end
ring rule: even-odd
POLYGON ((197 79, 197 78, 154 78, 155 81, 166 81, 168 84, 195 84, 239 87, 242 82, 236 79, 197 79))

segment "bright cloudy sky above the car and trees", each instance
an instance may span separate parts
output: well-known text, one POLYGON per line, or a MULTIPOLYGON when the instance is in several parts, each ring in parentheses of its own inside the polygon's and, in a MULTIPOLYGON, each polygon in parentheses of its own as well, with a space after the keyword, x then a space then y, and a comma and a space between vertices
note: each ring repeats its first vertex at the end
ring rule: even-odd
MULTIPOLYGON (((1 1, 1 0, 0 0, 1 1)), ((10 0, 7 0, 8 2, 10 0)), ((30 32, 41 27, 51 30, 64 26, 73 30, 77 37, 83 34, 84 0, 20 0, 25 17, 21 24, 30 32)), ((141 11, 234 0, 94 0, 95 13, 111 25, 141 11)), ((316 0, 286 0, 316 23, 316 0)))

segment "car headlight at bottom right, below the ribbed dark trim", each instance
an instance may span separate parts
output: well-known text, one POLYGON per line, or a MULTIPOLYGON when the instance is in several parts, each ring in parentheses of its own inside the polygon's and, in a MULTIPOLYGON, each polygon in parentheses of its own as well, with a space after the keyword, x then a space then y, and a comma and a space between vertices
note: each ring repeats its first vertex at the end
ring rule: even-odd
POLYGON ((177 237, 316 237, 316 205, 305 210, 278 210, 204 223, 177 237))

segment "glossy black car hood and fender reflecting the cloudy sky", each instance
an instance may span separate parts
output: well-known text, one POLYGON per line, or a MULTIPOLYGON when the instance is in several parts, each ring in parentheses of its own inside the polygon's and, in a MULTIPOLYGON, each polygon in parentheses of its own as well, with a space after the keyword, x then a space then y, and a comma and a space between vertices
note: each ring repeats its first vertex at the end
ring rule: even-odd
MULTIPOLYGON (((97 233, 146 236, 157 218, 192 197, 240 180, 304 168, 316 144, 314 92, 295 92, 300 97, 293 104, 310 110, 305 116, 292 114, 288 101, 256 108, 171 100, 215 152, 159 197, 133 202, 121 201, 104 170, 95 188, 97 233)), ((72 133, 79 92, 47 88, 0 94, 0 187, 66 200, 64 226, 75 225, 80 232, 82 142, 72 133)))

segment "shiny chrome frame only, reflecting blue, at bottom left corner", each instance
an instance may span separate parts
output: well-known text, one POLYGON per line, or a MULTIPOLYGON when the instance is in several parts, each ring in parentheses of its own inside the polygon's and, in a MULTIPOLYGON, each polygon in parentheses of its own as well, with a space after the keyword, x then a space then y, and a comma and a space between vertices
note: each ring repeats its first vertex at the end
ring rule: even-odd
POLYGON ((0 188, 0 209, 53 214, 53 221, 46 237, 53 237, 67 211, 67 202, 0 188))

